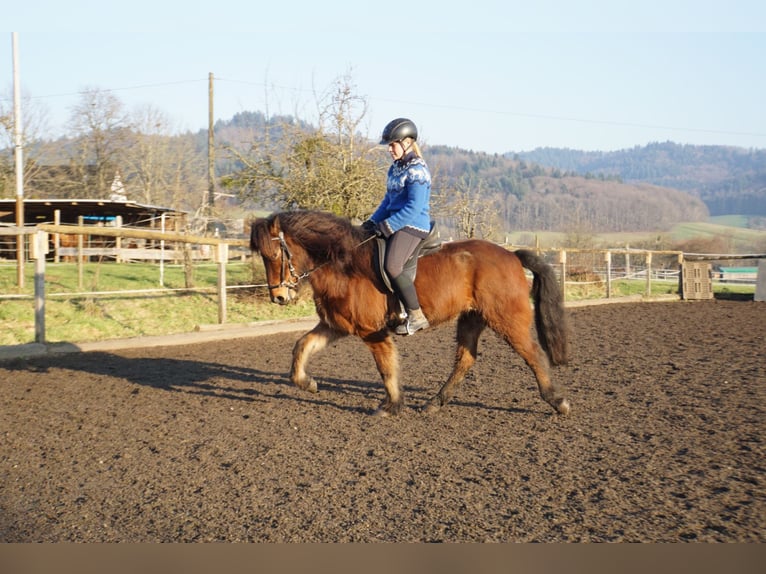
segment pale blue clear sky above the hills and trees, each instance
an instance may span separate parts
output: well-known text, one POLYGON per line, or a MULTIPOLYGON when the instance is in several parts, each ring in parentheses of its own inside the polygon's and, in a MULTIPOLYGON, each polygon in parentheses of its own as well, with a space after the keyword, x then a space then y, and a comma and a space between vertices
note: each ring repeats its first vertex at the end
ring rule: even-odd
POLYGON ((17 32, 22 92, 52 130, 86 88, 205 128, 210 72, 217 119, 312 121, 317 93, 348 74, 370 137, 408 116, 426 144, 490 153, 766 148, 762 0, 27 0, 2 13, 0 106, 17 32))

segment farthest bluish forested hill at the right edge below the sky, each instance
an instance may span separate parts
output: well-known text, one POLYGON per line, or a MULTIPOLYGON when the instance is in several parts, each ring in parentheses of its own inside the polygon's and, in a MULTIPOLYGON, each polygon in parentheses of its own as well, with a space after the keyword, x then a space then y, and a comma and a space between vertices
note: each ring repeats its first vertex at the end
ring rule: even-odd
POLYGON ((714 216, 766 216, 766 149, 665 142, 613 152, 537 148, 513 157, 580 175, 680 189, 704 201, 714 216))

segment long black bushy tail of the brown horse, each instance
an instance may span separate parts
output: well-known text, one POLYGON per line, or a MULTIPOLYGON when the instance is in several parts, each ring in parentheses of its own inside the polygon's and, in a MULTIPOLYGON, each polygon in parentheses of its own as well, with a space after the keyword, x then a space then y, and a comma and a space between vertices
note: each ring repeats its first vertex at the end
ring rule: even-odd
POLYGON ((540 346, 552 364, 564 365, 569 360, 569 333, 564 298, 553 267, 532 251, 520 249, 515 253, 521 264, 534 274, 532 299, 540 346))

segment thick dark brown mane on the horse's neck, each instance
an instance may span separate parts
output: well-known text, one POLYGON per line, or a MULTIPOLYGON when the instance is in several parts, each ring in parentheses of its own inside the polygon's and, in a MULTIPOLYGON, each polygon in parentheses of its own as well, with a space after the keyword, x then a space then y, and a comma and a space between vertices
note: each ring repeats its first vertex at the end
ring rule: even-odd
MULTIPOLYGON (((324 211, 283 211, 268 218, 308 253, 315 263, 337 263, 347 268, 358 260, 367 235, 347 218, 324 211)), ((371 244, 372 242, 369 242, 371 244)), ((365 243, 364 245, 368 245, 365 243)))

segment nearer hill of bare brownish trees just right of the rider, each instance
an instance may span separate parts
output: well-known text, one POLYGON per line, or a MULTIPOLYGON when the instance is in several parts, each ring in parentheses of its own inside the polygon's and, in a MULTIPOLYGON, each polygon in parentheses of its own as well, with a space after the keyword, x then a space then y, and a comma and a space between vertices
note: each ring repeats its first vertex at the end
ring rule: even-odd
POLYGON ((435 194, 449 202, 469 188, 505 229, 650 231, 708 218, 699 198, 677 189, 445 146, 428 146, 424 153, 435 194))

